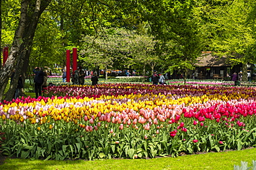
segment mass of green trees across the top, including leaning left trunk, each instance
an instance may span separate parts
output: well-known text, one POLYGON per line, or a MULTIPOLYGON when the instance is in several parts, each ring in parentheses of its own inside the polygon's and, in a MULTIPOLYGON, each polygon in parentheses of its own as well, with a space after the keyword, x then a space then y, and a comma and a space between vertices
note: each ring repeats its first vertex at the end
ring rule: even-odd
POLYGON ((233 65, 255 63, 255 11, 253 0, 1 1, 1 47, 10 53, 0 67, 0 96, 13 69, 64 67, 73 47, 91 70, 186 74, 202 51, 227 55, 233 65))

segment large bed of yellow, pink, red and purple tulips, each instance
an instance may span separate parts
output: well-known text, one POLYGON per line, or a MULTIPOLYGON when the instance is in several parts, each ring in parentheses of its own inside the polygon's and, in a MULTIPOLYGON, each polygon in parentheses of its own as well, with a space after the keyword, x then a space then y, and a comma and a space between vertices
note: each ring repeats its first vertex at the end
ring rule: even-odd
POLYGON ((0 103, 1 154, 33 159, 155 158, 256 145, 256 87, 47 87, 0 103))

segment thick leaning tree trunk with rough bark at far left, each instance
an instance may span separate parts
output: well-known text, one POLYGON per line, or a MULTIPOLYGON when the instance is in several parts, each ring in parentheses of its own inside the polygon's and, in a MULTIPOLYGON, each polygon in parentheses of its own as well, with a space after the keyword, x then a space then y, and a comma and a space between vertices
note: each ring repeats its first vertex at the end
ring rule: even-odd
POLYGON ((6 64, 0 71, 0 87, 2 87, 0 89, 0 100, 3 99, 3 92, 6 88, 8 79, 12 74, 12 70, 15 69, 16 74, 8 93, 6 94, 6 100, 12 99, 17 87, 19 75, 24 73, 24 66, 28 65, 30 50, 33 44, 39 17, 50 2, 51 0, 21 1, 19 25, 15 31, 15 37, 12 42, 12 47, 10 47, 10 54, 6 64))

